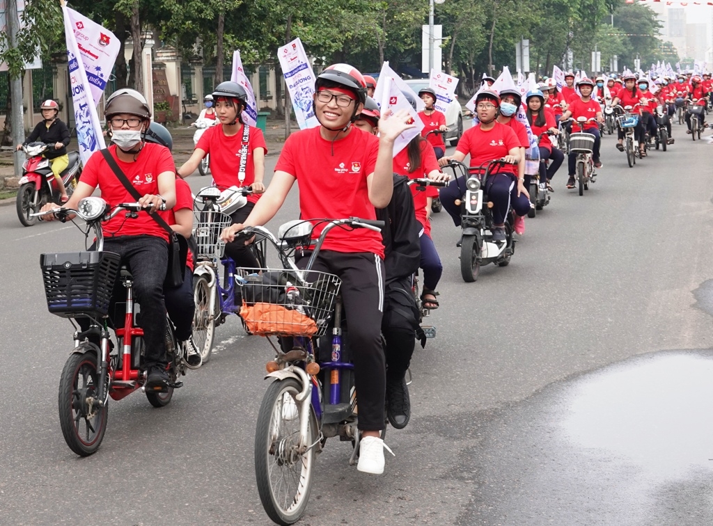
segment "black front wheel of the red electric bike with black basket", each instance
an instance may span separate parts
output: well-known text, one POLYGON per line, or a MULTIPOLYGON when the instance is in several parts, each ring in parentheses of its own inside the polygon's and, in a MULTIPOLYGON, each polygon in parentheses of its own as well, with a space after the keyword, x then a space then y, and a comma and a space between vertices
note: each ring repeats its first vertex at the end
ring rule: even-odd
POLYGON ((96 354, 73 353, 59 380, 59 423, 64 440, 77 455, 96 453, 106 431, 107 406, 99 406, 96 354))

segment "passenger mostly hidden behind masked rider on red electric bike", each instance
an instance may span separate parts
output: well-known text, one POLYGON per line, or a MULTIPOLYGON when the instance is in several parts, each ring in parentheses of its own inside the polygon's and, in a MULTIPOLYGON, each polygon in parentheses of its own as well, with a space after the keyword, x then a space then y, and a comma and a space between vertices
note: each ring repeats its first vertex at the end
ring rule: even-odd
MULTIPOLYGON (((173 138, 170 132, 159 123, 151 123, 144 134, 147 143, 155 143, 173 151, 173 138)), ((185 239, 193 234, 193 194, 188 182, 180 177, 176 181, 176 204, 170 210, 160 212, 163 220, 185 239)), ((189 243, 190 247, 190 243, 189 243)), ((198 368, 202 363, 200 353, 193 342, 193 314, 195 299, 193 298, 193 251, 188 249, 185 261, 185 277, 180 287, 163 288, 163 296, 168 317, 175 326, 175 337, 178 344, 185 349, 186 364, 190 368, 198 368)))

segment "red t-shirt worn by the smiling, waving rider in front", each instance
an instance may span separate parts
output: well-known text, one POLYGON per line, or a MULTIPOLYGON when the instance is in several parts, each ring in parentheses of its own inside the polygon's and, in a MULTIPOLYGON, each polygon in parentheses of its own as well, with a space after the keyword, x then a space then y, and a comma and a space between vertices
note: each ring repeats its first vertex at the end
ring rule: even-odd
MULTIPOLYGON (((287 172, 299 185, 299 212, 304 219, 375 220, 366 177, 374 173, 379 139, 352 126, 349 134, 334 142, 319 134, 320 127, 293 133, 284 142, 275 172, 287 172)), ((317 239, 324 225, 317 225, 317 239)), ((351 232, 335 227, 322 244, 334 252, 371 252, 384 257, 381 234, 358 228, 351 232)))

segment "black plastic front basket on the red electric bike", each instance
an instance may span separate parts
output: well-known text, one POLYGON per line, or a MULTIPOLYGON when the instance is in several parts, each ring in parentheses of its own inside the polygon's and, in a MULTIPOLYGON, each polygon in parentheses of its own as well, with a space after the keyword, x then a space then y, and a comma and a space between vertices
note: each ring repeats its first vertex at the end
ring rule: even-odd
POLYGON ((106 316, 119 262, 113 252, 40 254, 47 309, 63 318, 106 316))

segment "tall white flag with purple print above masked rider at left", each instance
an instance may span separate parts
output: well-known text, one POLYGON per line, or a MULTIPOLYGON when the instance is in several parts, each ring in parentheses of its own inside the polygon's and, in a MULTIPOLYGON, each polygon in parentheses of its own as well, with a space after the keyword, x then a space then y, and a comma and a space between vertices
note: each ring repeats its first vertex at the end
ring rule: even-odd
POLYGON ((94 152, 106 148, 96 105, 106 88, 119 43, 111 31, 73 9, 62 6, 62 14, 77 142, 85 165, 94 152))

